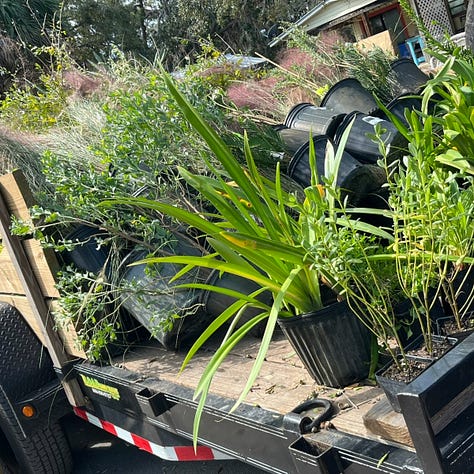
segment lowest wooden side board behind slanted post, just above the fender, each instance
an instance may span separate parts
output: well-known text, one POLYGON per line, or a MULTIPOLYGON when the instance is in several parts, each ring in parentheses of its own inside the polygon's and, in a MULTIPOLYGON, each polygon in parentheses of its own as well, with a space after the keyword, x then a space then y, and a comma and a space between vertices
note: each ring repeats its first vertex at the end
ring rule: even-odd
MULTIPOLYGON (((43 334, 41 328, 38 325, 38 321, 35 318, 33 311, 31 310, 30 304, 23 295, 10 295, 10 294, 0 294, 0 301, 4 303, 11 304, 14 306, 21 315, 25 318, 28 325, 31 327, 33 332, 39 337, 40 341, 45 345, 46 341, 44 341, 43 334)), ((54 309, 54 306, 57 304, 55 300, 47 300, 46 304, 50 311, 54 309)), ((66 327, 58 327, 57 331, 59 333, 59 337, 64 346, 64 350, 73 357, 80 357, 82 359, 86 358, 84 351, 78 344, 77 341, 77 334, 72 324, 66 327)))

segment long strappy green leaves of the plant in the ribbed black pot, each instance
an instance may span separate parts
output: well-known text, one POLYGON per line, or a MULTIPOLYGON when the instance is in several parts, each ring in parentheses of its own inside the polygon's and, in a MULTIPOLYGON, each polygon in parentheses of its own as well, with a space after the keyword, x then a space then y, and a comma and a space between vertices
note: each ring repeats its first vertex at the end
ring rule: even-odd
MULTIPOLYGON (((213 249, 213 252, 201 257, 151 258, 147 260, 148 263, 182 264, 183 268, 175 276, 176 279, 192 268, 200 266, 237 275, 258 285, 258 289, 249 295, 232 292, 231 296, 237 297, 235 303, 224 310, 203 331, 184 360, 182 369, 216 331, 232 321, 220 347, 206 366, 195 391, 195 398, 199 399, 194 421, 194 440, 196 441, 199 421, 212 379, 222 361, 236 344, 256 325, 266 321, 258 354, 233 409, 242 403, 252 388, 264 362, 278 321, 289 321, 299 315, 324 308, 327 302, 323 297, 322 285, 326 285, 333 295, 330 298, 331 303, 337 298, 338 288, 332 275, 327 273, 324 267, 315 266, 312 256, 302 245, 303 240, 312 231, 309 227, 311 223, 308 220, 300 219, 300 214, 306 207, 311 208, 317 214, 315 219, 319 219, 321 225, 328 222, 332 226, 334 220, 337 220, 336 191, 327 192, 325 188, 335 187, 338 160, 341 159, 343 146, 336 153, 332 150, 328 153, 325 173, 327 179, 324 187, 318 183, 316 171, 314 171, 316 166, 313 148, 313 153, 310 153, 313 169, 312 186, 304 190, 288 192, 282 186, 279 163, 276 164, 274 180, 268 179, 257 170, 248 143, 245 142, 247 163, 243 168, 220 137, 200 117, 169 78, 167 78, 167 85, 185 117, 207 142, 219 163, 220 167, 217 168, 206 156, 203 156, 210 171, 209 176, 195 175, 185 169, 179 169, 181 176, 198 190, 215 210, 212 214, 204 215, 163 202, 141 198, 119 202, 154 210, 194 227, 206 236, 208 244, 213 249), (258 299, 258 296, 264 291, 273 294, 271 305, 258 299), (260 313, 237 327, 236 322, 239 315, 249 306, 259 308, 260 313)), ((295 189, 297 189, 296 185, 295 189)), ((110 205, 111 202, 107 204, 110 205)), ((353 225, 357 227, 359 224, 354 221, 353 225)), ((382 230, 368 224, 364 224, 364 230, 374 232, 382 238, 390 237, 382 230)), ((226 288, 206 284, 187 286, 224 294, 229 292, 226 288)), ((339 308, 338 311, 340 310, 339 308)), ((331 328, 338 319, 338 311, 332 316, 331 328)), ((351 314, 352 316, 354 315, 351 314)), ((352 328, 358 327, 355 316, 352 318, 351 324, 352 328)), ((357 375, 363 377, 369 370, 370 351, 368 348, 370 348, 371 341, 370 334, 365 332, 363 327, 359 332, 361 333, 365 360, 363 361, 363 374, 358 373, 357 375)), ((350 334, 351 331, 348 333, 350 334)), ((341 342, 338 341, 339 358, 344 354, 340 344, 341 342)), ((348 354, 348 357, 354 358, 353 354, 348 354)), ((322 363, 322 360, 317 361, 317 365, 322 363)), ((355 379, 357 376, 350 380, 354 381, 355 379)), ((319 382, 324 383, 324 380, 319 382)))

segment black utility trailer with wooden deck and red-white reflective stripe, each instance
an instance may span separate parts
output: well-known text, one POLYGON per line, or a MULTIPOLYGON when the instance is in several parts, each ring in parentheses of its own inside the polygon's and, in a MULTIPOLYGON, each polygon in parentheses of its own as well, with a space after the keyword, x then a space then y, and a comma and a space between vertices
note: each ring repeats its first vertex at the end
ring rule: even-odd
POLYGON ((74 411, 162 459, 237 459, 271 473, 474 472, 474 335, 426 370, 402 413, 371 385, 317 386, 277 334, 246 404, 229 413, 258 350, 249 337, 208 397, 192 446, 193 388, 212 343, 178 376, 184 354, 139 341, 108 364, 54 328, 54 255, 10 234, 32 201, 21 173, 0 178, 0 471, 71 469, 59 420, 74 411))

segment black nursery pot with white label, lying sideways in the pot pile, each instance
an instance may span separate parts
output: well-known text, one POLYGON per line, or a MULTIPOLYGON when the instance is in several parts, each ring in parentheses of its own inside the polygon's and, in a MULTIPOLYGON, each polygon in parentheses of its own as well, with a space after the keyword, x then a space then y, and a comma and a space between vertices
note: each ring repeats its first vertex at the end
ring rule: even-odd
POLYGON ((347 114, 339 125, 334 138, 336 145, 339 145, 344 131, 351 123, 352 127, 344 149, 362 163, 377 164, 382 158, 378 141, 371 138, 371 135, 375 134, 376 125, 383 129, 380 138, 386 145, 390 145, 387 160, 392 162, 403 154, 407 141, 393 123, 358 111, 347 114))

